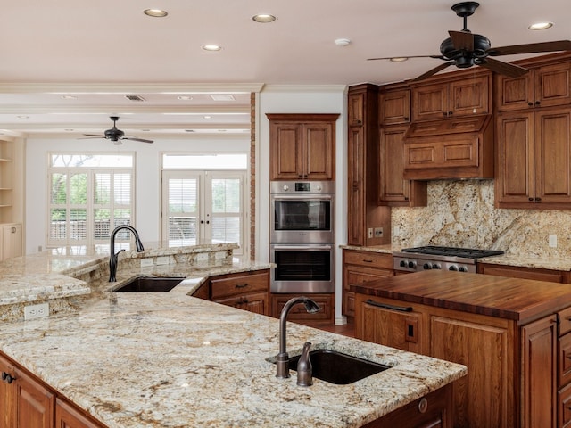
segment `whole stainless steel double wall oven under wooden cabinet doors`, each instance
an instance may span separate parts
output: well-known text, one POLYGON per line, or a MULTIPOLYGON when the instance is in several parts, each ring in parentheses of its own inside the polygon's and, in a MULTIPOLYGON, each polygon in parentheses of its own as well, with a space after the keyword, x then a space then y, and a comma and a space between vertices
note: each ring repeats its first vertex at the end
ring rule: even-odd
POLYGON ((271 292, 335 292, 335 182, 273 181, 271 292))

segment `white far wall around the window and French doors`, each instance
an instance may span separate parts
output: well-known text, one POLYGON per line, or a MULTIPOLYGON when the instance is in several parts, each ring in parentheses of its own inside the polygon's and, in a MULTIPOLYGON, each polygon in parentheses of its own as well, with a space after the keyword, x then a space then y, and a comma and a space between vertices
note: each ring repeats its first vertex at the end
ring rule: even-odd
POLYGON ((47 152, 137 152, 135 221, 141 239, 159 241, 162 152, 246 152, 250 136, 155 138, 153 144, 126 141, 116 146, 103 139, 29 138, 26 144, 26 253, 46 248, 47 152))

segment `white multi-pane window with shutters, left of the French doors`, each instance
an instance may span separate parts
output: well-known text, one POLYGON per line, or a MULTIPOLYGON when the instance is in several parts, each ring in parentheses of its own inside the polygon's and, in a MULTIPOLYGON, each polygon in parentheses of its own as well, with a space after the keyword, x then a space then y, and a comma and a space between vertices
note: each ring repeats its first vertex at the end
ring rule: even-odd
POLYGON ((108 245, 116 226, 132 225, 134 163, 134 153, 50 153, 47 244, 108 245))

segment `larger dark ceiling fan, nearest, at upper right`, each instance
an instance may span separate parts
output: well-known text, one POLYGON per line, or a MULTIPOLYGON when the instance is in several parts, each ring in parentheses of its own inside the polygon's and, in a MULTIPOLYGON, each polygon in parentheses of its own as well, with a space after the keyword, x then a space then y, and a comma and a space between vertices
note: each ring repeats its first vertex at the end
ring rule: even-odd
POLYGON ((459 17, 464 19, 464 28, 460 31, 448 31, 450 37, 445 39, 440 45, 440 55, 368 58, 368 61, 404 61, 409 58, 435 58, 445 61, 438 67, 434 67, 434 69, 428 70, 426 73, 418 76, 418 78, 414 78, 413 81, 429 78, 438 71, 444 70, 451 65, 455 65, 459 69, 468 69, 473 65, 479 65, 510 78, 517 78, 525 75, 529 70, 509 62, 495 60, 491 57, 518 53, 541 53, 571 50, 571 40, 491 47, 490 40, 488 40, 487 37, 474 34, 467 27, 468 16, 472 15, 479 5, 480 4, 476 2, 461 2, 452 6, 452 10, 456 12, 459 17))

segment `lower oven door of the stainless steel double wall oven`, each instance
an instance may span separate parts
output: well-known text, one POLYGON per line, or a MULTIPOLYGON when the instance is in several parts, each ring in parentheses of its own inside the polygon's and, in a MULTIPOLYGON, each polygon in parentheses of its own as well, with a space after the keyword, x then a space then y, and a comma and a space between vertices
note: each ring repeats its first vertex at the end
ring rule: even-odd
POLYGON ((332 243, 269 245, 271 292, 335 292, 335 245, 332 243))

